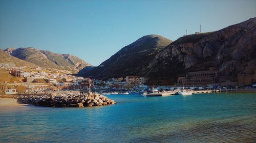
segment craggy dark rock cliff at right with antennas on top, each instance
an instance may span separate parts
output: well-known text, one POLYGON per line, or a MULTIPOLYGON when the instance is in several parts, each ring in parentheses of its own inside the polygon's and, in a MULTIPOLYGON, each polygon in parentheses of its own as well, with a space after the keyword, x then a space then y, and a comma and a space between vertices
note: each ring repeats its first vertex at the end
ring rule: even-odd
POLYGON ((215 70, 241 84, 256 82, 256 18, 220 31, 179 38, 142 67, 153 80, 175 82, 189 71, 215 70))

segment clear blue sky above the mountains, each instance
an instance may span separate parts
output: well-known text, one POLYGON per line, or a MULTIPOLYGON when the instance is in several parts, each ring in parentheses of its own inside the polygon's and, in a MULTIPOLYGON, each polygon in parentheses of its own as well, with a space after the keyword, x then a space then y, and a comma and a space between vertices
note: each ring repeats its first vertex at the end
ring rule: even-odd
POLYGON ((2 1, 0 48, 70 53, 98 66, 144 35, 177 40, 256 17, 256 1, 2 1))

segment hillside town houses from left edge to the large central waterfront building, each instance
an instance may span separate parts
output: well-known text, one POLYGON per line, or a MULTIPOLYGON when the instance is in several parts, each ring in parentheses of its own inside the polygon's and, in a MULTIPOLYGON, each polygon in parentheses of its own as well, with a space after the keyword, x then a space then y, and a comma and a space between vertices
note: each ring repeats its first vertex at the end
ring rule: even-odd
POLYGON ((113 91, 122 89, 138 88, 146 89, 143 85, 147 79, 139 76, 127 76, 126 78, 111 78, 109 80, 97 80, 90 78, 77 77, 69 74, 47 73, 40 71, 25 71, 23 67, 13 67, 2 64, 1 68, 8 71, 17 81, 4 81, 1 83, 2 94, 32 94, 42 93, 43 91, 88 91, 88 82, 92 81, 92 91, 113 91))

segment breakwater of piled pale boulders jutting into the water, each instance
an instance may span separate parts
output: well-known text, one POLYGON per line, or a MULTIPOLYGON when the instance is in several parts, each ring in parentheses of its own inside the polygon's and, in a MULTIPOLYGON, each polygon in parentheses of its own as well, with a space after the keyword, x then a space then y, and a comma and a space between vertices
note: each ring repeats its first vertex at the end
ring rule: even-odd
POLYGON ((23 104, 46 107, 87 107, 115 104, 114 100, 96 93, 80 95, 77 93, 61 94, 61 92, 52 92, 46 95, 19 96, 17 101, 23 104))

